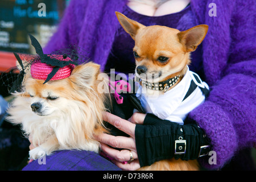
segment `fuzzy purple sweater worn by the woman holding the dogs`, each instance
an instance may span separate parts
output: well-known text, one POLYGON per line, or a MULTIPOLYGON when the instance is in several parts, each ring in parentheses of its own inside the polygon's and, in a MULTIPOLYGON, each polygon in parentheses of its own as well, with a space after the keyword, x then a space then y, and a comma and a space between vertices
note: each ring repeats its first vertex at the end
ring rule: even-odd
MULTIPOLYGON (((45 53, 77 44, 104 70, 126 1, 71 1, 45 53)), ((202 45, 205 81, 212 91, 189 117, 203 128, 217 153, 217 164, 207 159, 204 167, 216 169, 245 147, 256 143, 256 1, 191 0, 197 24, 208 24, 202 45), (217 16, 209 16, 210 3, 217 16)))

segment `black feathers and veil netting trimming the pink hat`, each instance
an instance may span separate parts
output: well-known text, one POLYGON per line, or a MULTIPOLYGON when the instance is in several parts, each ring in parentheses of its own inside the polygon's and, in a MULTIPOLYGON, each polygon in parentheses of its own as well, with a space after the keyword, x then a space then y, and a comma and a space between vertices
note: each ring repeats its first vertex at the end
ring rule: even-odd
MULTIPOLYGON (((31 65, 35 63, 51 67, 51 72, 47 73, 44 84, 51 80, 60 69, 75 66, 89 61, 88 52, 79 46, 70 45, 68 48, 53 51, 50 54, 44 54, 38 40, 29 35, 31 44, 35 48, 36 55, 15 53, 17 64, 0 75, 1 92, 15 93, 22 92, 22 82, 31 65), (5 90, 5 91, 4 91, 5 90)), ((6 93, 1 93, 6 94, 6 93)))

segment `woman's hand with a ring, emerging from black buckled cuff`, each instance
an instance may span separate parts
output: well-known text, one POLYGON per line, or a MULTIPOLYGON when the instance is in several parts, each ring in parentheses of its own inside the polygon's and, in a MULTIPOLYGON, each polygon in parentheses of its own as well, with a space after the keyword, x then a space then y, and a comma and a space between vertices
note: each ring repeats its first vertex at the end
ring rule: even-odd
POLYGON ((135 144, 135 124, 143 124, 146 114, 134 113, 129 121, 117 117, 108 112, 104 112, 103 119, 117 129, 130 135, 130 137, 113 136, 109 134, 101 134, 96 136, 96 139, 101 142, 101 150, 108 158, 112 158, 112 162, 123 170, 137 170, 139 165, 137 149, 135 144), (115 150, 114 148, 125 148, 123 150, 115 150), (133 161, 130 161, 130 152, 133 156, 133 161))

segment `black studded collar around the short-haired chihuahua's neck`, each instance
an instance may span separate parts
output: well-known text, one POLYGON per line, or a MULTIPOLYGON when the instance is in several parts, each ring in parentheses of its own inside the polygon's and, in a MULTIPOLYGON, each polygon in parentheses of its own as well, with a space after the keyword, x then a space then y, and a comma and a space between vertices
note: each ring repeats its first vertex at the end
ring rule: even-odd
POLYGON ((153 82, 153 83, 142 80, 142 85, 145 86, 147 89, 163 90, 163 92, 166 93, 168 88, 174 85, 179 80, 179 78, 180 78, 180 75, 169 78, 168 80, 165 80, 165 81, 153 82))

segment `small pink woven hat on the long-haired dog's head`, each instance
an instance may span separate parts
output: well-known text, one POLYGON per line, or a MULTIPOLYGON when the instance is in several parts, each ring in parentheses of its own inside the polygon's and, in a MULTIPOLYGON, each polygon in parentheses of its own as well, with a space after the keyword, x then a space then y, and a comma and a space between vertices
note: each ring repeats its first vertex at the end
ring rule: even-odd
MULTIPOLYGON (((69 57, 63 59, 61 55, 52 55, 55 59, 61 59, 61 61, 72 61, 69 57)), ((38 80, 46 80, 49 73, 52 72, 54 66, 48 65, 46 63, 41 63, 40 59, 36 60, 35 63, 31 65, 31 76, 38 80)), ((51 80, 61 80, 67 78, 71 75, 71 72, 75 68, 75 65, 69 64, 63 68, 60 68, 57 73, 51 78, 51 80)))

